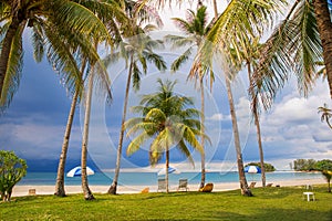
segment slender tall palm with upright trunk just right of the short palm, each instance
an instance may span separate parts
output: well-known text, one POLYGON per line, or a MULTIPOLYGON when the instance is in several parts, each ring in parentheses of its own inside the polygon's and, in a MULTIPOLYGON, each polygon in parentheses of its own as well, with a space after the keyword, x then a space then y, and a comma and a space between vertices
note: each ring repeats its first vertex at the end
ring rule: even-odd
MULTIPOLYGON (((186 51, 177 57, 172 64, 172 71, 176 72, 180 67, 180 65, 186 62, 190 54, 193 54, 194 49, 198 49, 204 41, 205 35, 207 34, 209 27, 207 21, 207 12, 206 7, 200 6, 195 13, 193 10, 187 10, 187 19, 183 20, 180 18, 173 18, 175 24, 178 29, 180 29, 186 36, 179 35, 166 35, 165 40, 170 41, 173 43, 173 48, 181 48, 187 46, 186 51)), ((200 88, 200 112, 201 112, 201 124, 205 125, 205 98, 204 98, 204 77, 205 71, 201 69, 203 63, 198 61, 199 70, 197 72, 190 72, 190 78, 197 78, 199 82, 200 88)), ((212 72, 210 72, 212 80, 212 72)), ((201 127, 201 134, 205 134, 204 127, 201 127)), ((200 138, 200 145, 205 149, 205 139, 204 136, 200 138)), ((205 152, 201 154, 201 179, 200 187, 203 188, 205 185, 205 152)))

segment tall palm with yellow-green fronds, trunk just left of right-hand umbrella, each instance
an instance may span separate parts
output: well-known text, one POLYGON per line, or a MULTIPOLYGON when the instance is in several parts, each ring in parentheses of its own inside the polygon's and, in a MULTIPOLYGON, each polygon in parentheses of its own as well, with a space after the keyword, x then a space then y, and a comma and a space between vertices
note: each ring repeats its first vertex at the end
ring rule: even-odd
POLYGON ((230 81, 232 80, 234 74, 238 72, 242 60, 234 60, 230 54, 234 50, 240 51, 243 41, 249 42, 250 39, 262 35, 266 27, 271 24, 273 14, 279 10, 279 3, 286 3, 286 1, 230 1, 226 10, 218 17, 206 35, 209 44, 204 44, 199 51, 199 55, 203 56, 205 61, 212 60, 216 51, 221 53, 225 60, 224 71, 237 151, 239 181, 241 193, 245 196, 252 196, 252 193, 248 188, 243 171, 241 146, 230 85, 230 81))

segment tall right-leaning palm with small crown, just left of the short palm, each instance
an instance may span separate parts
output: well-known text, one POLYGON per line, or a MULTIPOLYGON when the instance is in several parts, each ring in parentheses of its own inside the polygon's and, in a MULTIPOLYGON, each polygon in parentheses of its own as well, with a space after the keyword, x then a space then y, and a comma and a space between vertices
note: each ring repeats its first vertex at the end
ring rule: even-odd
MULTIPOLYGON (((134 2, 127 2, 133 4, 134 2)), ((147 72, 147 64, 153 63, 159 71, 166 70, 166 62, 163 60, 160 55, 154 52, 155 49, 163 46, 163 43, 158 40, 153 40, 151 36, 147 35, 148 31, 156 29, 153 24, 146 24, 144 28, 143 23, 154 19, 157 21, 157 24, 160 24, 159 17, 156 13, 148 13, 154 11, 154 9, 148 8, 146 6, 142 6, 141 3, 135 3, 133 6, 128 6, 128 17, 131 18, 131 24, 127 27, 126 32, 124 33, 126 39, 120 43, 118 52, 112 53, 105 60, 106 63, 115 62, 120 57, 123 57, 126 63, 128 63, 128 75, 125 88, 125 98, 124 98, 124 107, 122 114, 122 122, 121 122, 121 130, 118 136, 118 146, 117 146, 117 155, 116 155, 116 167, 114 172, 114 178, 112 185, 108 189, 110 194, 116 194, 117 188, 117 180, 120 175, 120 167, 121 167, 121 158, 122 158, 122 147, 123 147, 123 139, 124 139, 124 123, 126 120, 127 115, 127 103, 128 103, 128 95, 131 83, 133 87, 137 91, 139 88, 141 75, 142 71, 139 66, 143 69, 143 73, 146 74, 147 72), (153 17, 153 18, 152 18, 153 17)))

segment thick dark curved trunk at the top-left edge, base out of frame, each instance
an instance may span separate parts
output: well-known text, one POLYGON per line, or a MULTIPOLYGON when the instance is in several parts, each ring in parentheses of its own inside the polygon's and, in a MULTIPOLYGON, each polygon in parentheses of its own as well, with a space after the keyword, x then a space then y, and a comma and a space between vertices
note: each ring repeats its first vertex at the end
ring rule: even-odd
POLYGON ((6 78, 12 41, 14 39, 17 31, 19 30, 19 27, 22 23, 24 23, 24 21, 20 22, 18 18, 13 18, 2 42, 2 49, 0 55, 0 101, 2 99, 3 83, 6 78))

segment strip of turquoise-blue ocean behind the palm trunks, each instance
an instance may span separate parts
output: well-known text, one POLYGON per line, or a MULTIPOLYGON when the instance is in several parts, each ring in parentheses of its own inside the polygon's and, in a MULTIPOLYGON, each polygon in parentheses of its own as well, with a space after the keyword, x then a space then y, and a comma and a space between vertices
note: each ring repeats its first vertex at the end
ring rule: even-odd
MULTIPOLYGON (((248 182, 261 180, 260 173, 247 173, 248 182)), ((274 171, 267 172, 267 183, 278 182, 280 180, 310 180, 322 178, 320 172, 293 172, 293 171, 274 171)), ((114 172, 96 172, 89 176, 89 185, 91 186, 111 186, 114 172)), ((120 186, 154 186, 157 185, 158 178, 156 172, 121 172, 120 186)), ((180 172, 169 175, 169 185, 177 185, 178 180, 187 178, 189 185, 199 185, 200 172, 180 172)), ((18 183, 20 186, 54 186, 56 172, 28 172, 18 183)), ((222 183, 238 182, 238 172, 207 172, 206 182, 222 183)), ((81 177, 65 177, 66 186, 81 186, 81 177)))

